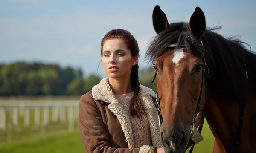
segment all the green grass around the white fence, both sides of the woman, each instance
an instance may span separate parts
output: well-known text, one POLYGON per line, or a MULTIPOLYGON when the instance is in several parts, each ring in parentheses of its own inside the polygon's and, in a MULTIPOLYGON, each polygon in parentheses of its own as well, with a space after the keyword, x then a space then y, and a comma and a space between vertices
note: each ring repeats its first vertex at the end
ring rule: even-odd
MULTIPOLYGON (((1 98, 0 98, 1 99, 1 98)), ((12 99, 12 98, 11 98, 12 99)), ((23 97, 12 100, 64 100, 65 97, 23 97)), ((2 98, 4 100, 4 98, 2 98)), ((8 100, 8 99, 5 99, 8 100)), ((10 99, 9 99, 10 100, 10 99)), ((67 100, 67 99, 66 99, 67 100)), ((70 98, 74 100, 74 98, 70 98)), ((75 100, 79 101, 76 97, 75 100)), ((50 110, 51 111, 51 110, 50 110)), ((31 123, 34 122, 33 114, 31 111, 31 123)), ((51 117, 51 112, 49 118, 51 117)), ((51 121, 51 119, 50 119, 51 121)), ((19 118, 20 125, 22 127, 24 118, 19 118)), ((12 133, 12 142, 6 143, 7 135, 0 132, 0 153, 86 153, 84 146, 81 141, 81 136, 77 122, 75 121, 75 130, 73 133, 68 132, 67 124, 63 123, 50 124, 42 133, 42 130, 36 128, 35 130, 24 130, 23 132, 12 133)), ((3 131, 2 131, 3 132, 3 131)), ((207 122, 204 122, 202 130, 204 141, 195 145, 193 153, 212 153, 213 148, 213 136, 209 129, 207 122)), ((190 149, 190 148, 189 148, 190 149)), ((186 153, 189 152, 189 149, 186 153)))

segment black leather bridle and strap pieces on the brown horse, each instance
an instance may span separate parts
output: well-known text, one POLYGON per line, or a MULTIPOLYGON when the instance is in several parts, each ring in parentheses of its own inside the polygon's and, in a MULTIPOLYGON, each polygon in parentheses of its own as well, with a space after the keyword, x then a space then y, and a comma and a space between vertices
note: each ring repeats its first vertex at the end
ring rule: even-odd
MULTIPOLYGON (((203 42, 201 41, 202 45, 203 45, 203 42)), ((176 43, 174 44, 170 44, 167 46, 167 48, 175 48, 177 46, 176 43)), ((204 45, 203 45, 204 46, 204 45)), ((186 46, 184 44, 180 45, 181 49, 186 49, 186 46)), ((191 126, 190 126, 190 136, 192 136, 193 134, 193 131, 194 131, 194 128, 195 128, 195 118, 196 116, 198 115, 198 113, 201 111, 201 104, 202 104, 202 93, 203 93, 203 82, 204 82, 204 85, 205 85, 205 101, 207 101, 207 81, 206 81, 206 78, 205 77, 209 77, 209 68, 206 64, 206 60, 204 58, 204 63, 203 63, 203 66, 202 66, 202 81, 201 81, 201 91, 200 91, 200 95, 199 95, 199 98, 198 98, 198 103, 197 103, 197 107, 196 107, 196 111, 195 111, 195 115, 194 115, 194 120, 191 122, 191 126), (208 69, 208 75, 206 75, 206 67, 208 69)), ((152 79, 151 83, 154 82, 155 78, 157 76, 157 73, 155 73, 154 75, 154 78, 152 79)), ((247 71, 246 71, 246 76, 247 76, 247 71)), ((247 78, 248 79, 248 78, 247 78)), ((158 92, 157 92, 157 98, 156 98, 156 102, 155 102, 156 106, 157 106, 157 114, 158 114, 158 121, 159 121, 159 129, 161 128, 161 125, 163 123, 163 117, 162 117, 162 114, 161 114, 161 108, 160 108, 160 98, 158 97, 158 92)), ((237 133, 237 136, 236 136, 236 142, 235 142, 235 151, 236 152, 239 152, 239 145, 240 145, 240 140, 241 140, 241 131, 242 131, 242 126, 243 126, 243 120, 244 120, 244 102, 242 102, 241 104, 241 110, 240 110, 240 117, 239 117, 239 124, 238 124, 238 133, 237 133)), ((201 122, 201 124, 199 125, 198 127, 198 131, 199 133, 201 133, 202 129, 203 129, 203 125, 204 125, 204 115, 203 115, 203 121, 201 122)), ((193 144, 193 146, 191 147, 191 149, 189 150, 189 153, 192 153, 193 149, 194 149, 194 146, 195 146, 195 143, 193 144)))

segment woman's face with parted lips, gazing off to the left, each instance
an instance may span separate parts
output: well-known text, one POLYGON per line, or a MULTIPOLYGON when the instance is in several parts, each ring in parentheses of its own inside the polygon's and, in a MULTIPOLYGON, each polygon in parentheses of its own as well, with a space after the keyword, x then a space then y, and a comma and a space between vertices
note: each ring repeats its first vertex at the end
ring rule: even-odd
POLYGON ((102 64, 109 78, 130 78, 131 67, 137 61, 122 39, 106 40, 102 46, 102 64))

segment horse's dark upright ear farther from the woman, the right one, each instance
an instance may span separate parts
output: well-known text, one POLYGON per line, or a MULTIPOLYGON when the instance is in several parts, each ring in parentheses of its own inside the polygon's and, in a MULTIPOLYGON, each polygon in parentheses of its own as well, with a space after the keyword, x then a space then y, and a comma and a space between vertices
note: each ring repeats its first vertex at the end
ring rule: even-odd
POLYGON ((204 12, 196 7, 189 20, 189 29, 196 37, 201 37, 206 28, 204 12))

